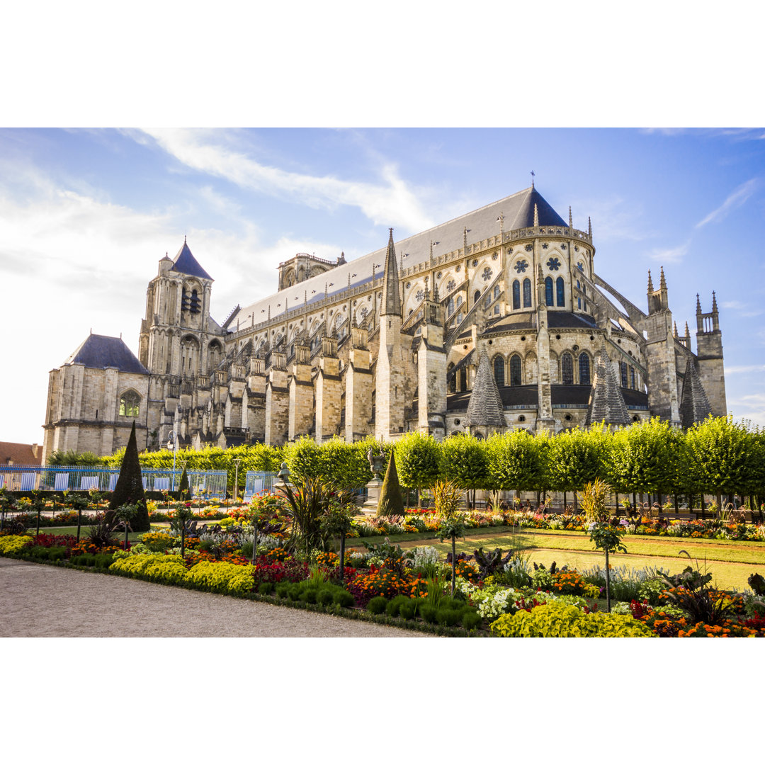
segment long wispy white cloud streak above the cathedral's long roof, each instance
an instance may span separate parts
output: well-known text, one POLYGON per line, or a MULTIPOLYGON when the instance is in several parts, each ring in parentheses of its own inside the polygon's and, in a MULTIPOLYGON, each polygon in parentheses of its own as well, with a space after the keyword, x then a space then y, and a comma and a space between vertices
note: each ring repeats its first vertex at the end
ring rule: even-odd
POLYGON ((200 130, 130 132, 139 142, 150 136, 187 168, 225 178, 239 187, 291 197, 310 207, 357 207, 376 224, 420 231, 434 224, 422 207, 422 193, 399 175, 395 163, 382 161, 380 182, 349 181, 331 175, 315 176, 263 164, 237 145, 236 135, 200 130))

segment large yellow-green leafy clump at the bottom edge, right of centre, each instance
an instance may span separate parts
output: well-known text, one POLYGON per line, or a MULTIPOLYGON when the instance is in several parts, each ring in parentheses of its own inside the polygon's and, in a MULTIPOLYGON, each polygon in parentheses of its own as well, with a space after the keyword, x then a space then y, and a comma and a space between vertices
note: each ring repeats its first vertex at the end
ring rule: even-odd
POLYGON ((530 611, 503 614, 490 624, 494 637, 655 637, 642 622, 621 614, 585 614, 552 601, 530 611))

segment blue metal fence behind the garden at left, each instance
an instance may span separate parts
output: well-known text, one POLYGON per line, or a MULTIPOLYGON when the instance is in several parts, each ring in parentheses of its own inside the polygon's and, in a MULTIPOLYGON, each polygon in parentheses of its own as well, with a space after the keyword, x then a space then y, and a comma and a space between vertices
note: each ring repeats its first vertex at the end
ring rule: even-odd
MULTIPOLYGON (((172 491, 182 470, 141 470, 145 491, 172 491)), ((226 470, 187 470, 191 496, 226 496, 226 470)), ((0 465, 0 487, 11 491, 113 491, 119 467, 83 465, 0 465)))

